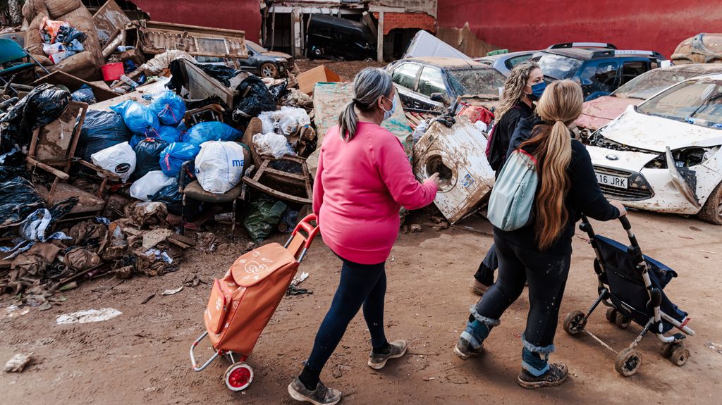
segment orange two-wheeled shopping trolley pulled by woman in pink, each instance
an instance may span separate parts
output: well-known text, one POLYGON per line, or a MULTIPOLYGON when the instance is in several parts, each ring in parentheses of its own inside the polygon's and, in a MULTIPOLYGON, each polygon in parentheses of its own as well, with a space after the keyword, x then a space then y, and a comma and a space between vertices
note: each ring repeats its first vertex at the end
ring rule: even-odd
POLYGON ((312 226, 311 221, 316 221, 316 215, 303 218, 285 246, 271 243, 245 253, 233 262, 222 279, 214 280, 203 316, 206 331, 191 344, 193 371, 202 371, 217 357, 224 356, 231 362, 224 375, 227 388, 242 391, 251 385, 253 368, 245 360, 318 234, 318 226, 312 226), (300 231, 305 231, 306 236, 300 231), (199 366, 193 349, 206 336, 215 353, 199 366))

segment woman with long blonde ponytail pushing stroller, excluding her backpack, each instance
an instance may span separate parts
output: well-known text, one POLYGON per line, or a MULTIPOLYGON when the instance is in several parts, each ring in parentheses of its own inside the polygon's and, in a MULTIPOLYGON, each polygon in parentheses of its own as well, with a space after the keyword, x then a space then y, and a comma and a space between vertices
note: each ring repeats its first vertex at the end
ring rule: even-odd
POLYGON ((518 376, 524 388, 557 386, 567 378, 566 365, 549 364, 548 360, 554 351, 576 221, 581 213, 599 221, 626 214, 621 203, 610 203, 601 194, 589 153, 579 141, 570 139, 568 126, 579 117, 582 103, 578 84, 555 81, 536 106, 539 117, 522 120, 516 128, 509 151, 521 149, 536 159, 539 184, 534 220, 516 231, 494 228, 499 278, 479 303, 471 306, 466 330, 454 347, 463 359, 482 352, 484 339, 529 282, 530 308, 521 337, 522 370, 518 376))

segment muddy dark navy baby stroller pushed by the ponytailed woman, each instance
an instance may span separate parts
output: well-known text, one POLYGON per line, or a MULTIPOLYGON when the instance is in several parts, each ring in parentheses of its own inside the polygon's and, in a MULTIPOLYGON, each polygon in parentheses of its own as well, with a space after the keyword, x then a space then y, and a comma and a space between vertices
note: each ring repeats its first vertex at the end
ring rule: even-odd
POLYGON ((695 331, 687 326, 690 321, 687 313, 677 308, 664 294, 664 287, 673 277, 677 277, 677 272, 651 257, 644 256, 627 217, 622 216, 619 221, 627 231, 630 246, 596 235, 589 220, 582 215, 579 228, 588 234, 596 254, 594 271, 599 278, 599 298, 586 313, 569 313, 564 320, 564 330, 572 336, 583 331, 612 350, 617 354, 614 368, 625 377, 634 375, 639 370, 642 355, 636 347, 648 331, 656 334, 662 342, 661 355, 675 365, 682 366, 690 357, 690 351, 682 344, 684 334, 694 336, 695 331), (626 329, 632 321, 643 328, 637 339, 621 352, 612 349, 586 330, 587 319, 599 303, 609 307, 606 310, 606 319, 617 324, 619 328, 626 329), (672 328, 677 328, 684 334, 665 336, 672 328))

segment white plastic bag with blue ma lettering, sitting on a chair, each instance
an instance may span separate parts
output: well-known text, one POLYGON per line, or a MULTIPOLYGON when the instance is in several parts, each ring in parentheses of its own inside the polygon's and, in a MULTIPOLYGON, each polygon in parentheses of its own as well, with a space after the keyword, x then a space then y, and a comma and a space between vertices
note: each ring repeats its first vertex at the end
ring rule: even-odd
POLYGON ((243 146, 235 142, 201 143, 201 152, 196 156, 196 177, 203 190, 223 194, 237 186, 243 176, 243 156, 243 146))

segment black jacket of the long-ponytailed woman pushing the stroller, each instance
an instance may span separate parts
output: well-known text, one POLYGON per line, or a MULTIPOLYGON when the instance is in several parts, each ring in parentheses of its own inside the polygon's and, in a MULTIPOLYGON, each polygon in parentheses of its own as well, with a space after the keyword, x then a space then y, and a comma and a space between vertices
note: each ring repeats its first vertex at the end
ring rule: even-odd
MULTIPOLYGON (((507 153, 511 153, 518 148, 523 141, 531 137, 531 130, 534 125, 544 124, 537 116, 531 116, 521 120, 514 131, 509 149, 507 153)), ((570 136, 573 136, 570 131, 570 136)), ((594 167, 591 164, 591 157, 586 148, 575 139, 570 140, 572 143, 572 160, 567 168, 567 175, 570 180, 569 193, 564 202, 569 217, 567 224, 562 228, 562 233, 552 246, 544 253, 548 254, 570 254, 572 252, 572 236, 574 236, 574 225, 581 218, 581 214, 585 213, 588 217, 598 221, 609 221, 619 218, 619 210, 614 205, 609 204, 601 190, 599 183, 596 181, 594 167)), ((527 151, 533 152, 533 151, 527 151)), ((541 177, 539 177, 541 183, 541 177)), ((536 232, 534 224, 517 229, 516 231, 502 231, 494 228, 494 232, 510 241, 513 244, 528 249, 539 251, 539 245, 536 243, 536 232)))

